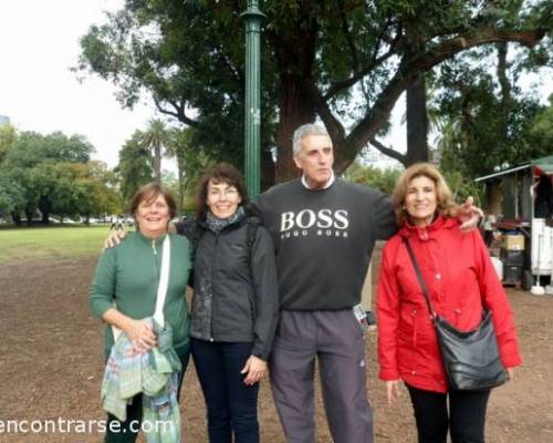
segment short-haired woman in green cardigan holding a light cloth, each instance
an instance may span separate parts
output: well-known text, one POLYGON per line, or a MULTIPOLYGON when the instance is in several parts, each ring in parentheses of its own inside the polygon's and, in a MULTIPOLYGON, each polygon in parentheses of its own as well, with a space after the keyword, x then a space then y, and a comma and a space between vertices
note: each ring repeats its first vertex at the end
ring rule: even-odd
MULTIPOLYGON (((144 319, 155 311, 163 244, 169 236, 170 267, 164 317, 173 329, 174 350, 182 367, 179 392, 189 357, 189 308, 185 290, 192 265, 191 247, 185 237, 168 234, 168 223, 175 217, 176 205, 171 195, 158 184, 140 188, 131 200, 131 212, 137 231, 129 234, 126 241, 116 247, 105 249, 100 257, 90 287, 88 306, 95 317, 107 323, 104 341, 106 360, 114 344, 112 326, 126 333, 135 352, 145 353, 156 347, 156 334, 144 319)), ((142 421, 139 396, 136 395, 127 405, 124 422, 114 425, 117 419, 108 414, 106 442, 136 440, 142 421)))

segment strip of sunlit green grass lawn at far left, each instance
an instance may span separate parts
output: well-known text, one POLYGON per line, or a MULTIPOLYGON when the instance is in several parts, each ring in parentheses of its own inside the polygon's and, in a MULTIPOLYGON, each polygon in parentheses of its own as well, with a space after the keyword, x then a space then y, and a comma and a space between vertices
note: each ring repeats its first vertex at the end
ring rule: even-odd
POLYGON ((0 262, 97 256, 108 234, 109 225, 0 229, 0 262))

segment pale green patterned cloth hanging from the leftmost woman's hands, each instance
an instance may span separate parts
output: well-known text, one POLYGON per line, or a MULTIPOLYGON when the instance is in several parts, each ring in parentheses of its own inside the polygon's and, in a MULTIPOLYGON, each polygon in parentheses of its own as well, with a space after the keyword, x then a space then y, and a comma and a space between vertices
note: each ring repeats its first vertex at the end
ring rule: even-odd
POLYGON ((133 350, 122 333, 112 348, 102 382, 102 404, 119 421, 127 418, 127 404, 142 393, 143 426, 147 443, 180 443, 177 403, 180 360, 173 349, 169 324, 161 329, 153 318, 158 346, 148 353, 133 350))

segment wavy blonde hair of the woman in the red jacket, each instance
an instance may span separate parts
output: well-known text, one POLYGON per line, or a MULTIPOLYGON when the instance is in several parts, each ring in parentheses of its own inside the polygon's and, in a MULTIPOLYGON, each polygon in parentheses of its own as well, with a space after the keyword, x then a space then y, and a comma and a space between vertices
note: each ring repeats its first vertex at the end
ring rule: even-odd
POLYGON ((407 214, 405 208, 405 197, 407 196, 409 183, 417 177, 427 177, 434 182, 436 186, 438 214, 445 217, 455 216, 456 204, 451 189, 449 189, 448 184, 438 168, 430 163, 416 163, 405 169, 405 172, 399 176, 394 194, 392 195, 394 212, 396 213, 396 220, 398 225, 401 226, 404 222, 409 220, 409 214, 407 214))

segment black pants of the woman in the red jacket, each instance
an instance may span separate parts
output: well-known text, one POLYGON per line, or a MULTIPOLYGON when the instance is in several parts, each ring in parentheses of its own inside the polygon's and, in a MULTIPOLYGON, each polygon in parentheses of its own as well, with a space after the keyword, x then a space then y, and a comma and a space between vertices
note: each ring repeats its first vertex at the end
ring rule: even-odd
POLYGON ((407 388, 415 409, 419 443, 446 443, 448 429, 452 443, 484 442, 490 390, 445 394, 407 388))

